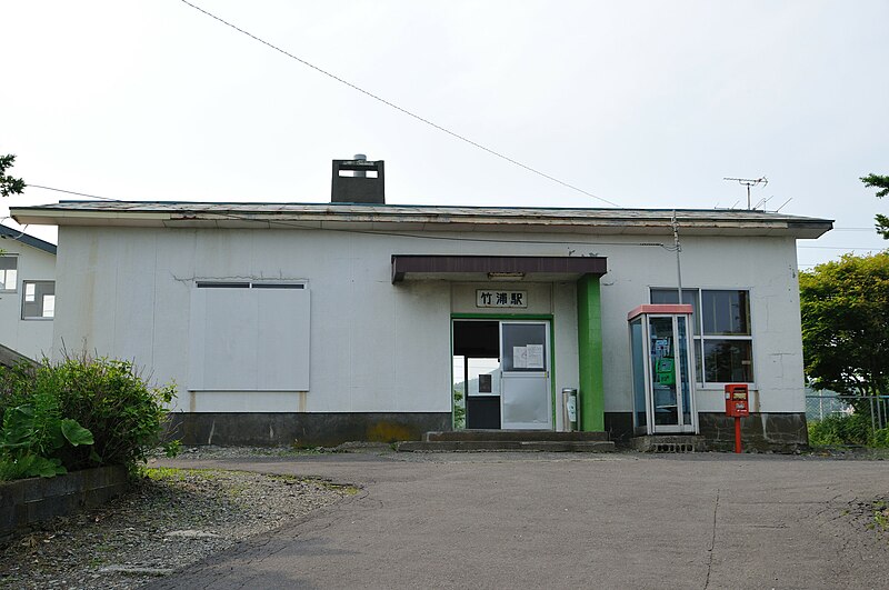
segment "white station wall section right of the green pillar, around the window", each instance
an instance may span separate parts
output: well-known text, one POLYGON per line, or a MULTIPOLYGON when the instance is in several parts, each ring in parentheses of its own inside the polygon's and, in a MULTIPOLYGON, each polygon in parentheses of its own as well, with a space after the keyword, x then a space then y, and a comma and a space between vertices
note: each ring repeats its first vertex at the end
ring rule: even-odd
MULTIPOLYGON (((647 241, 645 239, 640 241, 647 241)), ((613 252, 613 253, 612 253, 613 252)), ((606 411, 632 408, 627 312, 648 302, 652 287, 676 287, 676 254, 622 248, 608 256, 602 277, 602 363, 606 411)), ((805 412, 799 284, 792 238, 685 237, 682 288, 747 289, 753 338, 751 410, 805 412)), ((721 388, 698 389, 699 412, 723 412, 721 388)))

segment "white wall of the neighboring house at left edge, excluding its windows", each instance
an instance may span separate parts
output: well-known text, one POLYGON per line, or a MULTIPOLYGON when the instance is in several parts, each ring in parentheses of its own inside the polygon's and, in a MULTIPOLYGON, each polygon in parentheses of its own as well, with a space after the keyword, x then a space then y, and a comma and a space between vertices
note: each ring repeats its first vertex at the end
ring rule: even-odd
POLYGON ((21 318, 22 282, 56 280, 56 257, 12 239, 0 241, 0 256, 18 257, 16 292, 0 292, 0 344, 40 360, 50 353, 53 320, 21 318))

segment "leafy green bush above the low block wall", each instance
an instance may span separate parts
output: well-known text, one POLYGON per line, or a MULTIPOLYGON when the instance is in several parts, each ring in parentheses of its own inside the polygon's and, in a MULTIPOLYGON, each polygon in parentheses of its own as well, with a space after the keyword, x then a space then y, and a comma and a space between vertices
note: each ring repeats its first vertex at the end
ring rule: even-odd
POLYGON ((172 384, 149 387, 129 361, 82 357, 0 368, 0 479, 22 471, 50 474, 46 461, 56 472, 101 464, 132 469, 161 442, 174 394, 172 384), (32 461, 26 457, 43 458, 37 461, 43 470, 24 469, 32 461))

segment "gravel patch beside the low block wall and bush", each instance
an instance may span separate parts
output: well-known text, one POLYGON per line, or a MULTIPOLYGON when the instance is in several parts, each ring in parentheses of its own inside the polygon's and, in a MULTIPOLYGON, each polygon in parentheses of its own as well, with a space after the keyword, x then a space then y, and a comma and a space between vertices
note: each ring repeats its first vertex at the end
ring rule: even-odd
POLYGON ((0 588, 138 588, 357 492, 243 471, 147 473, 104 507, 54 519, 0 547, 0 588))

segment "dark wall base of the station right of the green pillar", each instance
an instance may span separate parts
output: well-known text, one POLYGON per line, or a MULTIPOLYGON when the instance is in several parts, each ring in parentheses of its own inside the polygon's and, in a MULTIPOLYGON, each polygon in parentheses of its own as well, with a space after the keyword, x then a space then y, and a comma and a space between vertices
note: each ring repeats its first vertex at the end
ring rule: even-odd
MULTIPOLYGON (((698 422, 708 451, 735 450, 735 419, 720 412, 699 412, 698 422)), ((605 429, 611 440, 629 443, 631 412, 606 412, 605 429)), ((745 451, 793 452, 806 449, 809 433, 805 413, 757 413, 741 418, 741 446, 745 451)))

